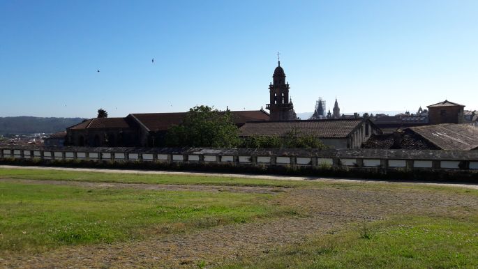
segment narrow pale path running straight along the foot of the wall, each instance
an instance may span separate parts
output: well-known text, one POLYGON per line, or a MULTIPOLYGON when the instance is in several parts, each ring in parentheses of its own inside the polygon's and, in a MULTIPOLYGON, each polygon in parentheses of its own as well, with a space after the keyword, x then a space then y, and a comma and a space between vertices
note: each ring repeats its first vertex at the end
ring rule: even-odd
POLYGON ((117 174, 151 174, 151 175, 178 175, 178 176, 221 176, 231 178, 261 178, 274 180, 318 180, 327 182, 342 183, 389 183, 389 184, 413 184, 413 185, 435 185, 445 187, 465 187, 478 190, 478 184, 472 183, 440 183, 440 182, 420 182, 420 181, 394 181, 394 180, 364 180, 357 178, 323 178, 313 176, 269 176, 254 174, 219 174, 219 173, 201 173, 201 172, 181 172, 181 171, 149 171, 149 170, 130 170, 130 169, 96 169, 96 168, 70 168, 70 167, 23 167, 17 165, 0 165, 0 168, 6 169, 40 169, 40 170, 61 170, 61 171, 87 171, 100 173, 117 174))

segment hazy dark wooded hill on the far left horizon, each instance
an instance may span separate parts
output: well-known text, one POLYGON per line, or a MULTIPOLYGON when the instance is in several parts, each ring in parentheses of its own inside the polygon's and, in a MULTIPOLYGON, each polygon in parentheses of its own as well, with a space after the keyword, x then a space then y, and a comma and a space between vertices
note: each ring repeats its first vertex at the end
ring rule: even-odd
POLYGON ((61 132, 81 123, 84 118, 40 118, 32 116, 0 117, 0 134, 33 134, 61 132))

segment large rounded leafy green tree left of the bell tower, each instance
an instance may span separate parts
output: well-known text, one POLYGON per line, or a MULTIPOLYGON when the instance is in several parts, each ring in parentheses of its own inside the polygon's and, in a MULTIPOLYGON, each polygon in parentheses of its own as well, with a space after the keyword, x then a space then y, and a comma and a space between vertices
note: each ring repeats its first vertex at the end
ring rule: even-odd
POLYGON ((239 145, 239 130, 229 111, 219 112, 208 106, 189 109, 179 125, 166 134, 167 146, 207 146, 227 148, 239 145))

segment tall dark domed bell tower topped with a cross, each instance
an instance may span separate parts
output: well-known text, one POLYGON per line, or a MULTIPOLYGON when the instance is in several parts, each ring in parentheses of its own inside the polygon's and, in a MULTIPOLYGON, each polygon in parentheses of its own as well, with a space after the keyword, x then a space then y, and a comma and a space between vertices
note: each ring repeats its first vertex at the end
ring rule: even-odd
POLYGON ((289 84, 285 82, 285 72, 281 67, 279 59, 280 53, 277 54, 278 66, 274 70, 272 83, 269 84, 269 104, 266 109, 271 112, 271 121, 292 121, 296 120, 294 116, 294 105, 289 98, 289 84))

